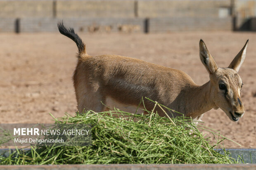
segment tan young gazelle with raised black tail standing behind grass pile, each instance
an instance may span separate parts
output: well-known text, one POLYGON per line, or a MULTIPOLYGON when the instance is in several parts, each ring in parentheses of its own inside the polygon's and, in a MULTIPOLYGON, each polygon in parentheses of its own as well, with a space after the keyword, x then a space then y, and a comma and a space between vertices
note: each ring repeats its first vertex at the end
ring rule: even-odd
MULTIPOLYGON (((180 70, 124 56, 90 56, 73 28, 65 28, 63 23, 58 23, 58 28, 78 47, 73 83, 79 112, 84 109, 102 112, 116 107, 135 113, 141 98, 148 97, 194 120, 200 120, 212 108, 222 109, 232 121, 238 121, 244 114, 240 98, 242 80, 237 72, 244 61, 248 40, 228 68, 218 68, 200 40, 200 59, 210 81, 198 86, 180 70)), ((145 100, 145 106, 153 109, 154 103, 145 100)), ((165 116, 162 110, 156 111, 165 116)), ((175 112, 168 114, 178 116, 175 112)))

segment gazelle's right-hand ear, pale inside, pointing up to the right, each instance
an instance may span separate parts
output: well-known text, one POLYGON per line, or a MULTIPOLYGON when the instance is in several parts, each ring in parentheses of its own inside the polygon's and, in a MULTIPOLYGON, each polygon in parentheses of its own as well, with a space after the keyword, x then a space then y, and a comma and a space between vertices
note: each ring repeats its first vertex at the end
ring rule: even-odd
POLYGON ((236 72, 238 72, 239 68, 241 67, 242 63, 244 62, 245 56, 246 56, 246 49, 247 49, 247 44, 248 41, 245 43, 244 47, 241 49, 241 51, 239 51, 239 53, 237 54, 237 56, 235 56, 235 58, 233 59, 233 61, 230 63, 230 65, 228 66, 228 68, 232 68, 233 70, 235 70, 236 72))

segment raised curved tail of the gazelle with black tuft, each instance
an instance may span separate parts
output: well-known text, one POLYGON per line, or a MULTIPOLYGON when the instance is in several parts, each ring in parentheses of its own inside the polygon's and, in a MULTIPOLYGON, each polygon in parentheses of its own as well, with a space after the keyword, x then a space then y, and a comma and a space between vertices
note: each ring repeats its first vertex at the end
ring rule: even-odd
POLYGON ((77 47, 78 47, 78 52, 79 54, 86 54, 85 51, 85 44, 83 43, 83 41, 81 40, 81 38, 75 33, 74 28, 66 28, 63 25, 63 21, 59 22, 58 24, 58 28, 59 28, 59 32, 67 37, 69 37, 71 40, 73 40, 77 47))

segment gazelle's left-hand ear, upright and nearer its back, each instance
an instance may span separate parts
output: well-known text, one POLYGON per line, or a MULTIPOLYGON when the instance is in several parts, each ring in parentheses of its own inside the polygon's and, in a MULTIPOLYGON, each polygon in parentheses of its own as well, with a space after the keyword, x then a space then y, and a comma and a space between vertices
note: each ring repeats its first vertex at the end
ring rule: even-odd
POLYGON ((211 56, 211 54, 209 53, 203 40, 200 40, 199 47, 200 47, 200 59, 204 67, 206 68, 206 70, 209 72, 209 74, 216 72, 216 70, 218 69, 218 66, 214 61, 213 57, 211 56))

